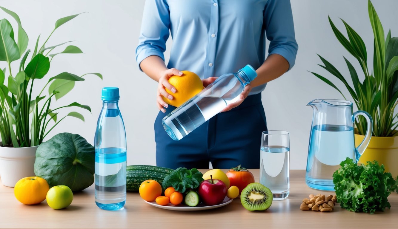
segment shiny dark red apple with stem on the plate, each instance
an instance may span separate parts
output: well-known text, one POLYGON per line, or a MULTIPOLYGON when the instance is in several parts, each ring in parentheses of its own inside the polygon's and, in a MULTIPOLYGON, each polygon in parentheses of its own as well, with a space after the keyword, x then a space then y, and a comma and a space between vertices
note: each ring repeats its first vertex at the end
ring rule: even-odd
POLYGON ((226 186, 221 180, 213 179, 213 176, 210 178, 199 184, 199 196, 207 206, 221 204, 226 196, 226 186))

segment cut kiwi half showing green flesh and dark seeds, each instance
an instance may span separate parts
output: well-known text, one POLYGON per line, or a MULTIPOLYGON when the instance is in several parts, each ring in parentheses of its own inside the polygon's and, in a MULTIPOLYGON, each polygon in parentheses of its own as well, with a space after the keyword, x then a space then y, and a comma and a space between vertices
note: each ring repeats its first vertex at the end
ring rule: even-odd
POLYGON ((251 183, 242 190, 240 202, 249 211, 267 210, 272 204, 272 192, 260 183, 251 183))

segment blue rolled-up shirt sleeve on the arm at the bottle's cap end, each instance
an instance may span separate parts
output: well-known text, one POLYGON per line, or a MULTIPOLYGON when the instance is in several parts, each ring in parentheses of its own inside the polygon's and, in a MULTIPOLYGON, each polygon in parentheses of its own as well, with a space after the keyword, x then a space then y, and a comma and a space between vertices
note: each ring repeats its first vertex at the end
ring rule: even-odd
POLYGON ((283 56, 289 62, 290 70, 298 50, 290 0, 268 0, 264 9, 264 25, 270 41, 268 54, 283 56))

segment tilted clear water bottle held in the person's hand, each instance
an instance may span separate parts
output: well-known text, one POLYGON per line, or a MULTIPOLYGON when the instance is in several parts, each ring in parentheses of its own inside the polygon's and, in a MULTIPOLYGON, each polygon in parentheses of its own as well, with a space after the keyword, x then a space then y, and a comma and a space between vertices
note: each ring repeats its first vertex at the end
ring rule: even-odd
POLYGON ((220 76, 163 118, 162 124, 167 134, 173 140, 187 136, 230 103, 238 101, 244 87, 256 77, 257 73, 250 65, 246 65, 236 73, 220 76))

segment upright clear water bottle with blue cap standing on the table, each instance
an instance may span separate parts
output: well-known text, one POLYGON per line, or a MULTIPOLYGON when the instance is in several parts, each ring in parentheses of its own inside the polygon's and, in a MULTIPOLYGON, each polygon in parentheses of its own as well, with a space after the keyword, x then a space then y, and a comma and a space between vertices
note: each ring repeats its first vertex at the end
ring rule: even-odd
POLYGON ((95 143, 96 204, 118 210, 126 203, 126 131, 119 111, 119 88, 102 89, 95 143))

